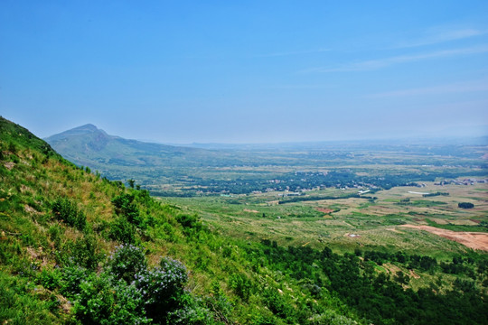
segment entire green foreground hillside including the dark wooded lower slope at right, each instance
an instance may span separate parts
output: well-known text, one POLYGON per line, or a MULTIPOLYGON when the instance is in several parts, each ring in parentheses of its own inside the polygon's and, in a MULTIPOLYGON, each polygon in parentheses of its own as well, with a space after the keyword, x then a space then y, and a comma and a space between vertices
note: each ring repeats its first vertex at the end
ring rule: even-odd
POLYGON ((77 167, 2 117, 0 153, 2 324, 488 319, 486 254, 338 255, 225 237, 184 207, 77 167), (413 288, 410 276, 425 285, 413 288))

